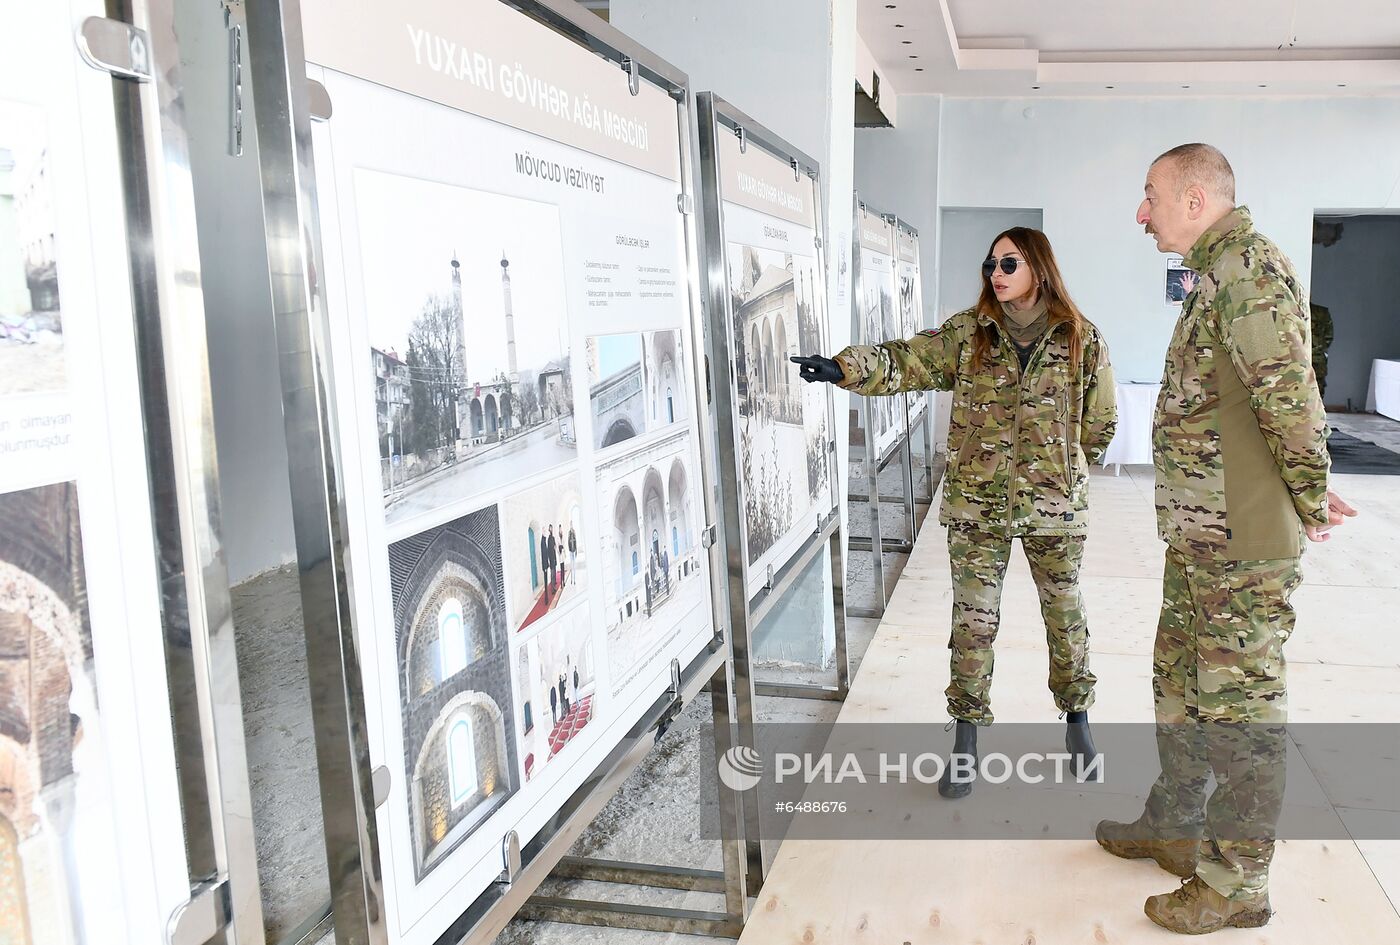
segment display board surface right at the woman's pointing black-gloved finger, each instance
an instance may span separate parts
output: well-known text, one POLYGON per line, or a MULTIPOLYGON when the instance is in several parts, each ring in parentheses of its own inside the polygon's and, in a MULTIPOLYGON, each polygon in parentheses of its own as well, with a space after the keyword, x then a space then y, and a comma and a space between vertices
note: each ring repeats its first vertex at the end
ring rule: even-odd
POLYGON ((752 599, 826 519, 833 491, 832 391, 804 384, 792 354, 826 351, 818 255, 819 182, 757 143, 718 132, 717 179, 734 357, 745 592, 752 599))

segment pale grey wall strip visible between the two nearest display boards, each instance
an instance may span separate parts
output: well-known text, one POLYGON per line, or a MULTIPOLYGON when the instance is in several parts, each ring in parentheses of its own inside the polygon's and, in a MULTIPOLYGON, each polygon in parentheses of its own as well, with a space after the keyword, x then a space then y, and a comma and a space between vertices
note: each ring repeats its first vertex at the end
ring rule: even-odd
MULTIPOLYGON (((217 3, 178 4, 228 578, 295 560, 258 137, 244 49, 244 155, 228 154, 228 34, 217 3)), ((245 34, 246 36, 246 34, 245 34)))

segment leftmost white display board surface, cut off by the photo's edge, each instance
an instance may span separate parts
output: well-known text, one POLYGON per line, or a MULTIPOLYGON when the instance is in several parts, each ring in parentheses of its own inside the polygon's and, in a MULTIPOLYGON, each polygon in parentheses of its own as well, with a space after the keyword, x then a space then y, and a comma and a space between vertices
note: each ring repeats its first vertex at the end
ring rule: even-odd
POLYGON ((0 29, 0 939, 164 941, 189 897, 99 3, 0 29))

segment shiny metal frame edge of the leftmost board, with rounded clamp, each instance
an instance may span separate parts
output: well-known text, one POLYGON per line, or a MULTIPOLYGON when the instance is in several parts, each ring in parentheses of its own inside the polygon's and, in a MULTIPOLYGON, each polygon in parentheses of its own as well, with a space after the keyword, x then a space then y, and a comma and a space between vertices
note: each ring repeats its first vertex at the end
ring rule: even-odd
POLYGON ((136 372, 190 897, 168 945, 265 937, 172 0, 118 0, 76 52, 112 76, 136 372))

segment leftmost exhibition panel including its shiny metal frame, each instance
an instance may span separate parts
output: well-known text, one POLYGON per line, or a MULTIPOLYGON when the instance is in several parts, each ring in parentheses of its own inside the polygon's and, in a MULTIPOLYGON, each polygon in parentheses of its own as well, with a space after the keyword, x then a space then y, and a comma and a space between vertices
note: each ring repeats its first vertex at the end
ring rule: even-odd
POLYGON ((104 11, 0 31, 0 938, 252 937, 174 31, 104 11))

